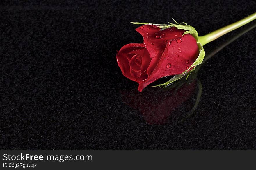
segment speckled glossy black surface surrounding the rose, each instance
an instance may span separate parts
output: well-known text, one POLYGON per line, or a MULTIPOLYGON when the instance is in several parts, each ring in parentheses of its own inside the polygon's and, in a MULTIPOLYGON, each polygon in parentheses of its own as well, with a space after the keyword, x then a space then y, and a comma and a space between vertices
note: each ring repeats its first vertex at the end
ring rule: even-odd
MULTIPOLYGON (((255 28, 181 92, 138 92, 115 58, 143 42, 129 21, 174 18, 204 35, 256 12, 255 1, 1 1, 0 11, 1 149, 256 148, 255 28), (179 122, 198 82, 200 102, 179 122)), ((206 56, 242 30, 205 45, 206 56)))

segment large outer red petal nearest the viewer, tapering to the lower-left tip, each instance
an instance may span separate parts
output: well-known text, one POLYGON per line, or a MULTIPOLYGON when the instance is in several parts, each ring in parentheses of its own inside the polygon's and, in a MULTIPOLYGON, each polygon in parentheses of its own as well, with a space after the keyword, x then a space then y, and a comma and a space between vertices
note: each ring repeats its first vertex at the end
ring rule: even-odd
POLYGON ((182 41, 178 43, 176 40, 171 41, 171 45, 167 45, 163 55, 152 74, 145 83, 139 83, 138 90, 142 91, 150 83, 156 79, 181 74, 190 67, 197 59, 199 49, 195 38, 191 34, 182 36, 182 41), (170 66, 171 67, 167 67, 170 66))

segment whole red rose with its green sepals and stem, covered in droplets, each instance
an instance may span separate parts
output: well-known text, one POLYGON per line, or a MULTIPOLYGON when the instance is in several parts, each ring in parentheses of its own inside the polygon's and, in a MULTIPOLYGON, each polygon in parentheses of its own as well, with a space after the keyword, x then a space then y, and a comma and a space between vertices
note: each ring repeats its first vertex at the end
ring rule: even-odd
POLYGON ((159 78, 173 76, 166 83, 157 85, 166 87, 185 75, 189 76, 195 66, 202 63, 203 45, 254 19, 256 13, 205 36, 198 36, 195 28, 176 21, 169 25, 134 23, 144 24, 136 28, 144 42, 123 46, 116 54, 118 66, 125 77, 139 83, 140 92, 159 78))

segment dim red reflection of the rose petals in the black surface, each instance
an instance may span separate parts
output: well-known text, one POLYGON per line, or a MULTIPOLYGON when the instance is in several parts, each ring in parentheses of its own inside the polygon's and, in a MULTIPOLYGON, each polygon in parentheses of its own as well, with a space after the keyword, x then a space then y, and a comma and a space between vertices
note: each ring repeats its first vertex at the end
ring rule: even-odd
POLYGON ((123 101, 140 111, 147 123, 160 125, 166 123, 182 103, 195 96, 196 80, 179 85, 180 87, 167 90, 148 88, 143 93, 132 89, 121 94, 123 101))

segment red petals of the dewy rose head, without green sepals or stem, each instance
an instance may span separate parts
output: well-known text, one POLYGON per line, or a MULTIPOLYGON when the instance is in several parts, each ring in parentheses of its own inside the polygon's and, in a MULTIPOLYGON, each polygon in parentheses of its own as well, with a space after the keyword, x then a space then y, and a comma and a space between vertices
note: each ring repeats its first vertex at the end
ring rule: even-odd
POLYGON ((159 78, 181 74, 198 57, 196 39, 191 34, 182 36, 185 30, 143 25, 136 31, 144 43, 123 46, 116 59, 123 75, 139 83, 140 92, 159 78))

